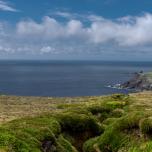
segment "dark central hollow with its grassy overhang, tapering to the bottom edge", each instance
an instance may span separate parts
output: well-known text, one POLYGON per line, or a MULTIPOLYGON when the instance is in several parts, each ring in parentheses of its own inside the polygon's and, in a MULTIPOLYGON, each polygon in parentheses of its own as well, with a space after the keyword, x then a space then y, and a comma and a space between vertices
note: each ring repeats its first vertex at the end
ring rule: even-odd
POLYGON ((61 125, 64 137, 81 151, 83 143, 103 132, 100 122, 90 113, 65 112, 58 114, 57 120, 61 125))

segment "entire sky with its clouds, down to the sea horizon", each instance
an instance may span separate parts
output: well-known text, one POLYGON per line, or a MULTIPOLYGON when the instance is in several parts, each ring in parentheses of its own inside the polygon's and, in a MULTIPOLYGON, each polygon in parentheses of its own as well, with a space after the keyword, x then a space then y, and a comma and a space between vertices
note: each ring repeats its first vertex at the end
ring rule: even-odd
POLYGON ((150 0, 0 0, 2 59, 151 60, 151 55, 150 0))

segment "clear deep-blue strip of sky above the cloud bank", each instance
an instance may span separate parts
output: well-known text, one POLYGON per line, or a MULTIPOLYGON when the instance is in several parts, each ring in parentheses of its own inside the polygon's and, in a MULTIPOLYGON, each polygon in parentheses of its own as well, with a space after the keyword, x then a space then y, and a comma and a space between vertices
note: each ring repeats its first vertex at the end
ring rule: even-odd
POLYGON ((39 21, 50 11, 57 10, 81 14, 93 13, 110 19, 152 12, 152 1, 148 0, 10 0, 6 2, 20 11, 13 14, 1 11, 0 18, 10 22, 24 18, 39 21))

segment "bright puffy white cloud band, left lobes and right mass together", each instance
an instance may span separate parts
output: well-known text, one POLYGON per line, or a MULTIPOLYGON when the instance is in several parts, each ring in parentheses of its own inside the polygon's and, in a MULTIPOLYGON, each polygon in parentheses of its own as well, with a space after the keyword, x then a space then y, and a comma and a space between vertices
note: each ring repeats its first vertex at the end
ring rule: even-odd
POLYGON ((43 40, 76 38, 91 43, 116 43, 118 46, 135 46, 152 43, 152 15, 125 17, 111 21, 99 16, 89 16, 91 25, 85 27, 79 20, 70 20, 62 24, 57 20, 44 17, 41 23, 32 20, 17 24, 17 34, 39 37, 43 40))

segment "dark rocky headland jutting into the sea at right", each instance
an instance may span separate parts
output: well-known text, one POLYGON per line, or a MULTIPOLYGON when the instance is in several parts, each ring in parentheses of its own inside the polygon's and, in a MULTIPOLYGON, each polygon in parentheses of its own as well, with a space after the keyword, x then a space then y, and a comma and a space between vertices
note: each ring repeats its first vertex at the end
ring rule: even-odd
POLYGON ((151 74, 144 74, 142 71, 135 73, 133 78, 121 84, 121 88, 135 90, 152 90, 151 74))

